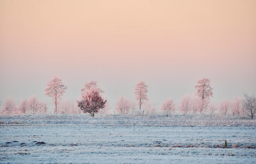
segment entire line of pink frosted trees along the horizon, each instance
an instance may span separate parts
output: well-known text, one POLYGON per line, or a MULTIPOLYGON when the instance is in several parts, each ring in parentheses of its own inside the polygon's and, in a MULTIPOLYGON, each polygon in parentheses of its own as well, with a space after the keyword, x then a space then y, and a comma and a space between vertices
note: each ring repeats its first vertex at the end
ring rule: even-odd
MULTIPOLYGON (((161 106, 161 112, 157 112, 155 106, 149 102, 147 97, 148 86, 145 81, 139 81, 134 88, 135 100, 126 99, 123 95, 115 105, 115 111, 126 115, 166 115, 174 113, 182 115, 205 113, 209 116, 239 116, 253 119, 256 113, 255 95, 244 94, 244 97, 235 97, 232 101, 225 99, 218 105, 210 102, 213 97, 212 87, 209 78, 202 78, 194 86, 196 93, 191 96, 182 96, 178 108, 171 98, 167 98, 161 106)), ((81 114, 89 113, 92 117, 95 114, 108 114, 111 106, 102 93, 104 91, 97 85, 97 81, 85 83, 81 89, 81 99, 76 102, 69 100, 62 101, 61 96, 65 93, 67 86, 60 78, 52 76, 47 82, 45 95, 51 97, 55 105, 55 114, 81 114)), ((35 95, 29 99, 22 99, 17 106, 13 98, 8 97, 2 104, 1 115, 24 115, 24 114, 47 114, 46 102, 41 102, 35 95)))

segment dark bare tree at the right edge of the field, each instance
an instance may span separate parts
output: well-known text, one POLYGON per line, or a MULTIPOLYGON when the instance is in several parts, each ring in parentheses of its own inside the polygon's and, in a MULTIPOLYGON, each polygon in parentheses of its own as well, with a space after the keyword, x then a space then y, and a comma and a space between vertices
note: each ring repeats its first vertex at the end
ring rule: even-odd
POLYGON ((256 97, 254 94, 252 94, 252 96, 248 96, 247 94, 243 94, 243 95, 244 95, 243 108, 247 112, 247 114, 251 116, 253 119, 256 113, 256 97))

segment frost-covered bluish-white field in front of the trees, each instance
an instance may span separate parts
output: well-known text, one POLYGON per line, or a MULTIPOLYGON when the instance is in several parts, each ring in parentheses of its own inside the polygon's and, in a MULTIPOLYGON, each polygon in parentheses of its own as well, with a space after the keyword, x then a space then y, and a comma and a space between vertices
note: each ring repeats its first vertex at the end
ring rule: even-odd
POLYGON ((179 116, 96 117, 0 117, 0 163, 256 161, 256 120, 179 116), (227 140, 227 149, 223 148, 224 140, 227 140))

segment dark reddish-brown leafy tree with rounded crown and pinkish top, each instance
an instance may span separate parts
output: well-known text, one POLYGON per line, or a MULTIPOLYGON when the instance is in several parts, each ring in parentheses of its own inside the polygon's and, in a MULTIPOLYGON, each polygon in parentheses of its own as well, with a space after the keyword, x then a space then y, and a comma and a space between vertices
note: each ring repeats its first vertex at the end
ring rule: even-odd
POLYGON ((95 113, 105 107, 106 100, 102 98, 98 87, 91 86, 90 89, 84 91, 82 100, 77 101, 78 107, 84 113, 90 113, 92 117, 94 117, 95 113))

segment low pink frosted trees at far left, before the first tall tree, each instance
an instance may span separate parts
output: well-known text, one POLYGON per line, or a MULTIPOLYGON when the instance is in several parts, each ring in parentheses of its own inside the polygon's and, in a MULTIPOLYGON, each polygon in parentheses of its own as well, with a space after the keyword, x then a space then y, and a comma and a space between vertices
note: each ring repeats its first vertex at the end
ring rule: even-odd
POLYGON ((48 106, 46 102, 38 101, 35 95, 31 96, 28 100, 22 99, 17 106, 13 98, 8 97, 2 105, 3 115, 13 114, 45 114, 47 113, 48 106))

